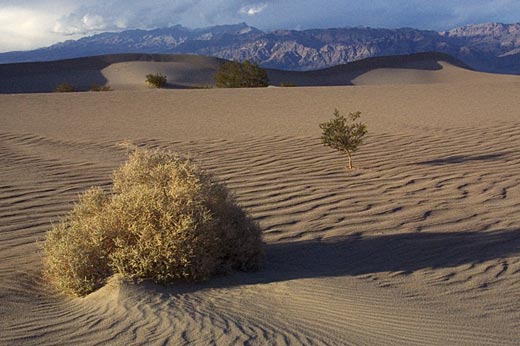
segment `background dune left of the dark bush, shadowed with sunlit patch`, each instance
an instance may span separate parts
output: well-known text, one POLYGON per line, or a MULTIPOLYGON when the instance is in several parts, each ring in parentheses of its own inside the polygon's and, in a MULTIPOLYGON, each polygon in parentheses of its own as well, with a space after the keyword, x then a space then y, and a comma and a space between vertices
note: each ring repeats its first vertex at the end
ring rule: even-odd
POLYGON ((0 65, 0 93, 53 92, 60 83, 79 91, 92 84, 146 89, 146 75, 166 74, 169 87, 205 86, 221 60, 196 55, 114 54, 51 62, 0 65))

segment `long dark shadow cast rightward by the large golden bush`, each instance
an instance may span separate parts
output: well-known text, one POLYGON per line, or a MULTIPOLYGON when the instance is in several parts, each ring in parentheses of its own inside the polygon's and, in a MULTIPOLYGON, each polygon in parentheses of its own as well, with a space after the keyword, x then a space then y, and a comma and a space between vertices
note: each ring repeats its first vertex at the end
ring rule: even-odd
POLYGON ((233 273, 198 284, 147 289, 177 295, 203 289, 267 284, 295 279, 379 272, 413 273, 426 268, 476 264, 520 254, 520 229, 494 232, 412 233, 344 239, 274 243, 266 247, 263 269, 233 273))

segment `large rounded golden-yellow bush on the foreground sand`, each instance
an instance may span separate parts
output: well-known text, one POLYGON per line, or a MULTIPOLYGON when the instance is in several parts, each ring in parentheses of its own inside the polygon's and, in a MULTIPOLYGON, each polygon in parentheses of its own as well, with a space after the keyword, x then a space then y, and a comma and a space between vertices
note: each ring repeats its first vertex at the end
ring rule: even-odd
POLYGON ((82 194, 47 234, 46 273, 61 290, 83 296, 114 273, 166 283, 257 269, 258 225, 190 161, 136 150, 113 181, 109 195, 82 194))

